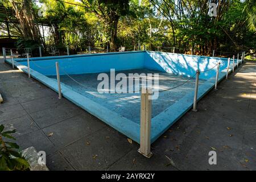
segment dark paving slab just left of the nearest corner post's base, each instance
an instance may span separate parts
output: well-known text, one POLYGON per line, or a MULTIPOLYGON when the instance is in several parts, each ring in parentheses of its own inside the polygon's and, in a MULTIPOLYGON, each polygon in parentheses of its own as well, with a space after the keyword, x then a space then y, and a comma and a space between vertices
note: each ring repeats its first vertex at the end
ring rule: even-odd
POLYGON ((75 169, 104 170, 137 147, 137 144, 128 143, 118 131, 104 128, 60 152, 75 169))

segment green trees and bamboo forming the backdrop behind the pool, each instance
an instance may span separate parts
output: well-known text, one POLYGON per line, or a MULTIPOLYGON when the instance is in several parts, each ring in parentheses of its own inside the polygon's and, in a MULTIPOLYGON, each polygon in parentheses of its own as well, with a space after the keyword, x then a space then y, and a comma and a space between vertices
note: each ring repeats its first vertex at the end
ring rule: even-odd
MULTIPOLYGON (((256 1, 253 0, 0 0, 13 9, 9 24, 23 43, 108 46, 111 51, 144 44, 148 49, 176 47, 199 55, 255 50, 256 1), (210 16, 210 3, 216 16, 210 16), (47 30, 43 39, 40 26, 47 30)), ((5 29, 6 16, 1 16, 5 29)), ((10 19, 10 17, 9 17, 10 19)))

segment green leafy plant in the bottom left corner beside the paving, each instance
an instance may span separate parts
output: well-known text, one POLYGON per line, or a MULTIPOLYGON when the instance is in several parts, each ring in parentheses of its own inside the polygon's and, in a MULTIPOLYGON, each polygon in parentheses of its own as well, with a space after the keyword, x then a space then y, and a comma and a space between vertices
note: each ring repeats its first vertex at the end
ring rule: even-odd
POLYGON ((4 138, 15 140, 11 134, 16 130, 3 131, 5 127, 0 125, 0 171, 29 170, 30 165, 22 156, 18 144, 14 142, 5 142, 4 138))

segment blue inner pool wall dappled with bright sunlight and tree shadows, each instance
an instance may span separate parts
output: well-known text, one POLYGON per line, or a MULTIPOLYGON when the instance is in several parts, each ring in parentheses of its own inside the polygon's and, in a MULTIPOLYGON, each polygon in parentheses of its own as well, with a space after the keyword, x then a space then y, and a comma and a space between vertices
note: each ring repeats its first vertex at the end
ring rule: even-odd
MULTIPOLYGON (((226 58, 147 51, 144 55, 144 68, 191 77, 195 75, 197 69, 205 71, 214 67, 218 61, 221 63, 220 71, 228 67, 226 58)), ((214 76, 216 76, 216 68, 200 73, 201 79, 207 80, 214 76)))

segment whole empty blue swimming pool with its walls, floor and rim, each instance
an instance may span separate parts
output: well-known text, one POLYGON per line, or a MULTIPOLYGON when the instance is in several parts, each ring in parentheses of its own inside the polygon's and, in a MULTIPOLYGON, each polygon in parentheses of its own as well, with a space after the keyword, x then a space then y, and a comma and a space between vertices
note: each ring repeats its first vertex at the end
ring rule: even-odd
MULTIPOLYGON (((11 63, 11 59, 6 59, 11 63)), ((220 81, 226 75, 228 59, 152 51, 97 53, 90 55, 30 58, 31 76, 57 92, 55 63, 59 62, 61 93, 65 98, 100 118, 139 143, 140 94, 98 93, 99 73, 158 73, 159 90, 172 88, 220 62, 220 81)), ((237 60, 235 61, 237 64, 237 60)), ((230 61, 231 71, 233 62, 230 61)), ((15 67, 28 72, 27 59, 14 59, 15 67)), ((200 73, 198 100, 213 88, 216 69, 200 73)), ((133 85, 139 88, 141 84, 133 85)), ((152 101, 151 142, 154 142, 193 104, 195 78, 152 101)))

